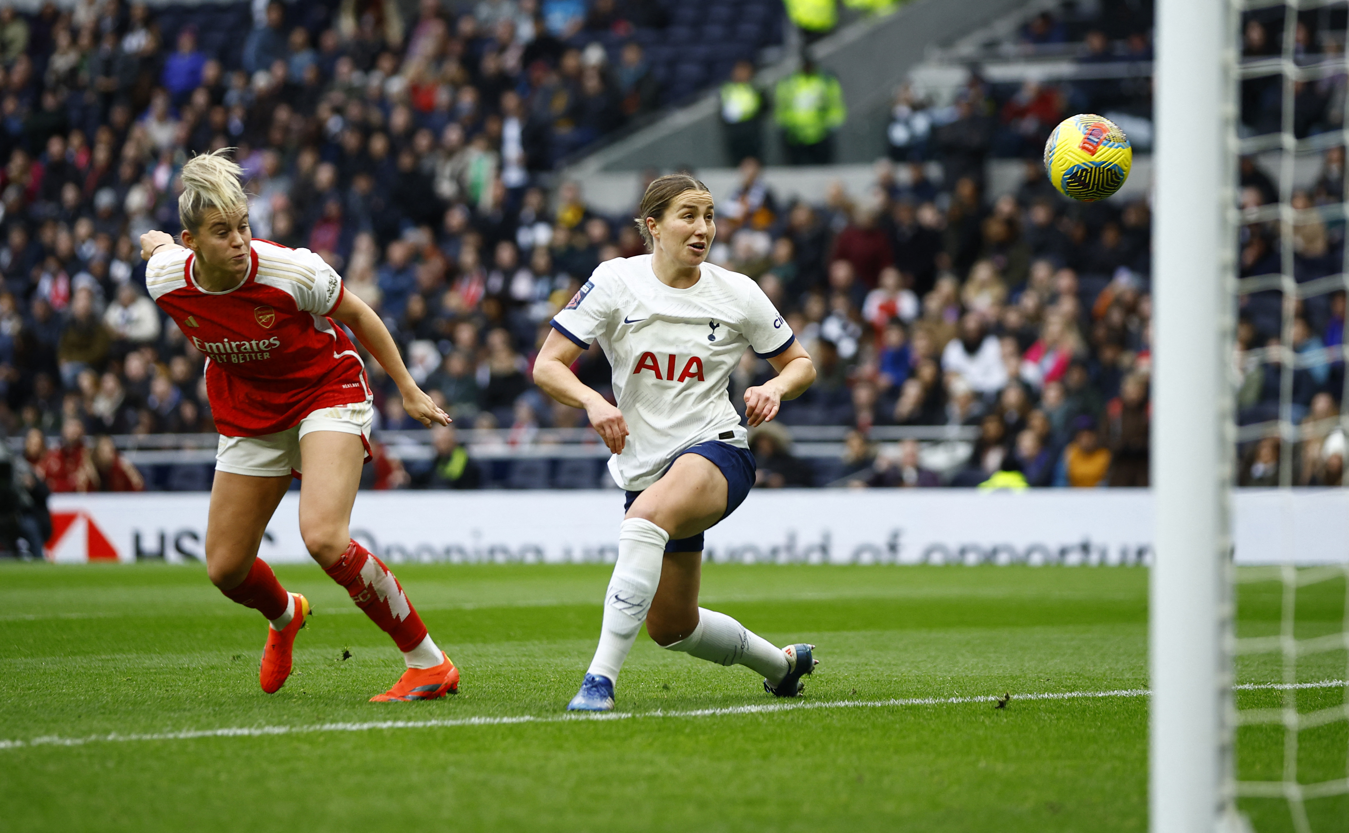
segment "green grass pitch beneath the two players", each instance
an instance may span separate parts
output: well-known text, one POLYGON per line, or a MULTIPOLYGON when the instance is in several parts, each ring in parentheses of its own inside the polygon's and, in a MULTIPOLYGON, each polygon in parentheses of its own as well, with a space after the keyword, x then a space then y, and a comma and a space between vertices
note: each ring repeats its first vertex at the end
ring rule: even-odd
MULTIPOLYGON (((563 714, 608 567, 394 569, 463 669, 455 697, 366 702, 402 663, 317 567, 277 570, 317 615, 274 696, 266 624, 200 567, 0 567, 0 830, 1147 829, 1147 697, 1027 697, 1147 686, 1143 569, 707 565, 704 607, 819 646, 804 698, 745 710, 786 701, 642 636, 618 685, 634 717, 608 720, 563 714), (1005 693, 1001 709, 912 702, 1005 693), (214 729, 248 732, 192 735, 214 729)), ((1337 631, 1344 597, 1342 580, 1304 589, 1299 628, 1337 631)), ((1276 634, 1278 584, 1244 585, 1240 611, 1242 635, 1276 634)), ((1276 656, 1240 669, 1280 673, 1276 656)), ((1340 651, 1299 678, 1344 674, 1340 651)), ((1342 696, 1299 691, 1299 708, 1342 696)), ((1307 780, 1345 776, 1345 733, 1304 733, 1307 780)), ((1241 776, 1278 778, 1283 748, 1244 729, 1241 776)), ((1292 829, 1283 802, 1242 809, 1292 829)), ((1349 829, 1342 797, 1309 811, 1349 829)))

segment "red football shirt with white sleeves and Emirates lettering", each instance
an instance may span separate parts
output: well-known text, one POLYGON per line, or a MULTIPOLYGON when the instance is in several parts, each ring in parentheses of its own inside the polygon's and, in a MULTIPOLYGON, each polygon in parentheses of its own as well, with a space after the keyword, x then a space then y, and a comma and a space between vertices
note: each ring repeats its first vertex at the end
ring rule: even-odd
POLYGON ((197 286, 193 257, 183 248, 155 255, 146 287, 206 354, 221 434, 275 434, 318 408, 370 400, 356 348, 328 318, 345 292, 341 278, 318 255, 254 240, 248 278, 224 292, 197 286))

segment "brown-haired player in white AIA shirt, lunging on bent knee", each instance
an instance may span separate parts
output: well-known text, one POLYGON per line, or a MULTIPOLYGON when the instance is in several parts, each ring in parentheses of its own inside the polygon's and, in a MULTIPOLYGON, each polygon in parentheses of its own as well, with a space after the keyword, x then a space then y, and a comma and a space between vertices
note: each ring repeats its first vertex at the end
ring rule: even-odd
POLYGON ((683 174, 656 179, 637 224, 652 253, 600 264, 553 318, 534 363, 538 387, 585 408, 627 491, 599 647, 567 708, 614 708, 614 682, 642 621, 665 648, 749 666, 769 693, 795 697, 816 665, 815 646, 777 648, 697 607, 697 588, 703 531, 754 484, 754 456, 727 395, 731 371, 746 346, 777 371, 745 392, 754 427, 811 387, 815 365, 758 284, 704 263, 716 236, 707 186, 683 174), (614 369, 616 407, 571 371, 592 341, 614 369))

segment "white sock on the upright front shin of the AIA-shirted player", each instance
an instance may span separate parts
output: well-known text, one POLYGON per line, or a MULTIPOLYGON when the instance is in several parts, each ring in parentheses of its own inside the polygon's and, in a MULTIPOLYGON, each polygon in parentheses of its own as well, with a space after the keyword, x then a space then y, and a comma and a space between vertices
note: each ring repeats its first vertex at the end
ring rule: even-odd
POLYGON ((637 632, 656 597, 669 539, 669 532, 645 518, 629 518, 618 527, 618 563, 604 592, 604 624, 590 674, 618 681, 618 670, 637 642, 637 632))

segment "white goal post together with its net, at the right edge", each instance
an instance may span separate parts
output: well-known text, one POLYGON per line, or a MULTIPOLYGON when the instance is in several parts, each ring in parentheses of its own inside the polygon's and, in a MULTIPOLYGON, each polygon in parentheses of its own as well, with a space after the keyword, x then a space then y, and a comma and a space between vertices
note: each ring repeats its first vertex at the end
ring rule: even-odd
POLYGON ((1346 39, 1345 0, 1157 0, 1153 830, 1349 830, 1349 515, 1292 526, 1349 483, 1346 39), (1234 487, 1282 492, 1273 566, 1234 487))

